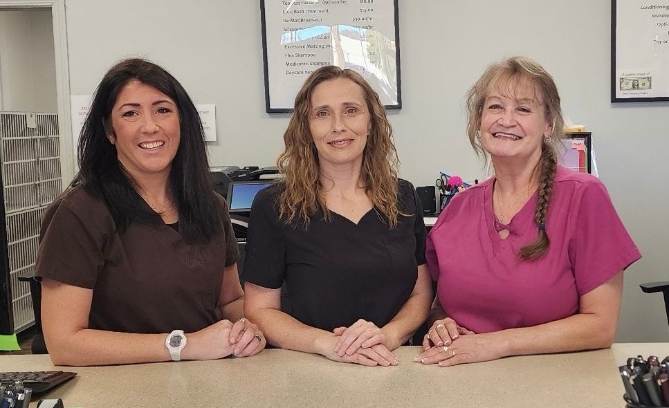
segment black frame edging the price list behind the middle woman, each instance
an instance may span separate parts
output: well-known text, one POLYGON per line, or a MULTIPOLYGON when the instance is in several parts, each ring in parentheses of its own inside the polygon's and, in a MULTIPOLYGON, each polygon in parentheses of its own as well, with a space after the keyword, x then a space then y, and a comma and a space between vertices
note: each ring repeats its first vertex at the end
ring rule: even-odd
MULTIPOLYGON (((277 1, 277 0, 269 0, 269 1, 277 1)), ((398 0, 392 0, 392 1, 393 1, 393 12, 394 12, 393 20, 395 26, 395 65, 396 65, 395 80, 397 85, 397 102, 395 104, 384 104, 384 106, 386 109, 402 109, 402 79, 401 79, 402 75, 401 75, 401 59, 400 59, 398 0)), ((271 64, 268 61, 266 18, 267 16, 265 10, 265 0, 260 0, 260 26, 262 30, 262 59, 263 59, 264 85, 265 85, 265 111, 267 113, 291 113, 293 112, 292 104, 291 106, 272 106, 271 95, 270 95, 270 75, 269 75, 269 66, 271 66, 271 64)), ((374 84, 370 83, 370 85, 372 85, 372 87, 374 88, 374 84)), ((295 92, 297 92, 297 89, 295 89, 295 92)))

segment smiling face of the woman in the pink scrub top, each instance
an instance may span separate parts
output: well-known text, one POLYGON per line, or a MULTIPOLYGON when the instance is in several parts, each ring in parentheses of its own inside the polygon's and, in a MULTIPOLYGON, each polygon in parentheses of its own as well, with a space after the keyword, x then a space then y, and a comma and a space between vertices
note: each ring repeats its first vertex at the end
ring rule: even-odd
POLYGON ((544 138, 551 136, 542 95, 529 80, 497 87, 488 94, 481 115, 481 145, 493 160, 518 158, 531 160, 541 154, 544 138))

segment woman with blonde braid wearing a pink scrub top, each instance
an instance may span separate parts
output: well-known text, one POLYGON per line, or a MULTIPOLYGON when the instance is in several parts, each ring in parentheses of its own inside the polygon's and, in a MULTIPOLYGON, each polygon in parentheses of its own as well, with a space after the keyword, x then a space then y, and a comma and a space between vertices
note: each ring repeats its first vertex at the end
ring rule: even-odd
POLYGON ((623 270, 641 257, 602 183, 557 164, 556 84, 537 62, 489 66, 468 136, 495 176, 452 199, 428 235, 433 322, 416 361, 450 366, 609 347, 623 270))

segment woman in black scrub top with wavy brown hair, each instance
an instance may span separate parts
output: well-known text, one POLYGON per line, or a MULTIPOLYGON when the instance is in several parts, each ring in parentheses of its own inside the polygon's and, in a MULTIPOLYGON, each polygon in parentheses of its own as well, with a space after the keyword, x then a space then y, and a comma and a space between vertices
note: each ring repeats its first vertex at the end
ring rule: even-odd
POLYGON ((246 316, 274 346, 394 365, 432 292, 421 205, 397 177, 385 108, 358 73, 324 66, 297 93, 284 142, 286 176, 251 210, 246 316))

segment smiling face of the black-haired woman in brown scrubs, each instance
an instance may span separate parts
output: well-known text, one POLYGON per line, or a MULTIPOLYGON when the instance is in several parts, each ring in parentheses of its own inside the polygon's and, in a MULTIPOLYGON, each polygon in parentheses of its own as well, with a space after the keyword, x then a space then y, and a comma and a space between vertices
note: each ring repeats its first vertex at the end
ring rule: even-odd
POLYGON ((174 101, 153 86, 133 80, 118 93, 111 109, 118 161, 136 180, 169 175, 181 139, 174 101))

